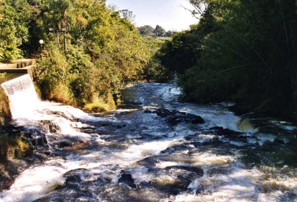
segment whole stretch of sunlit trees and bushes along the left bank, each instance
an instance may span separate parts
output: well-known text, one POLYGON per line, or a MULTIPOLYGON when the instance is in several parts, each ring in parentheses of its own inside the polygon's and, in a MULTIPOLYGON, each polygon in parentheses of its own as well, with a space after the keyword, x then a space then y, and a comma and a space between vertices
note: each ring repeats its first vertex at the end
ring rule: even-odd
POLYGON ((159 44, 148 47, 132 17, 107 8, 105 0, 1 1, 0 61, 41 53, 34 81, 42 99, 113 109, 126 83, 143 80, 149 49, 159 44))

